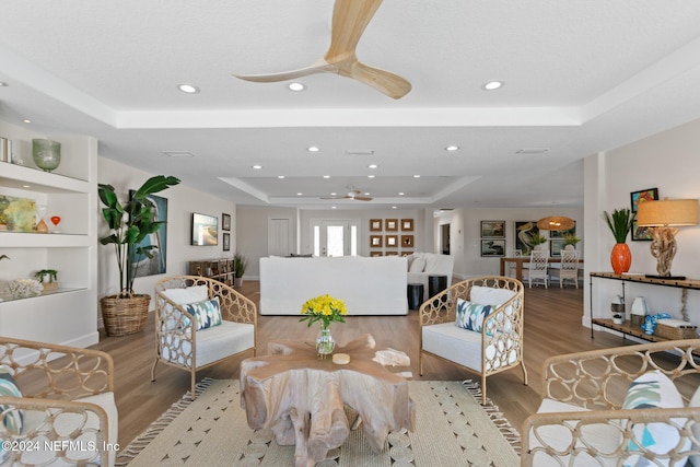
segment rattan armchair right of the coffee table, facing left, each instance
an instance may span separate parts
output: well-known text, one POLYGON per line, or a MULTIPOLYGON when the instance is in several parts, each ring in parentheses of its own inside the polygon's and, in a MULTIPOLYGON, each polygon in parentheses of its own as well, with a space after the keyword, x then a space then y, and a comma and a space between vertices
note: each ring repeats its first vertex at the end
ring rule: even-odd
POLYGON ((486 378, 520 365, 523 383, 527 370, 523 362, 523 283, 517 279, 490 276, 468 279, 428 299, 419 310, 419 372, 423 374, 423 353, 448 360, 481 375, 482 401, 486 378), (480 332, 455 326, 457 303, 462 300, 494 305, 483 318, 480 332))

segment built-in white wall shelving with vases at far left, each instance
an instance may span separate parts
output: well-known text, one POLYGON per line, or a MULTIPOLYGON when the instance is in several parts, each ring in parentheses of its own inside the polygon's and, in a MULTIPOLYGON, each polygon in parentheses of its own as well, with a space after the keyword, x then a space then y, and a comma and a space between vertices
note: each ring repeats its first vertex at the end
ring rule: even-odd
POLYGON ((84 136, 37 135, 0 121, 0 136, 12 140, 14 160, 0 162, 0 195, 33 199, 47 207, 50 233, 0 231, 0 335, 85 347, 97 342, 97 141, 84 136), (56 171, 40 171, 32 160, 32 139, 61 143, 56 171), (54 226, 49 218, 61 218, 54 226), (58 271, 59 289, 40 296, 13 299, 7 283, 33 278, 40 269, 58 271))

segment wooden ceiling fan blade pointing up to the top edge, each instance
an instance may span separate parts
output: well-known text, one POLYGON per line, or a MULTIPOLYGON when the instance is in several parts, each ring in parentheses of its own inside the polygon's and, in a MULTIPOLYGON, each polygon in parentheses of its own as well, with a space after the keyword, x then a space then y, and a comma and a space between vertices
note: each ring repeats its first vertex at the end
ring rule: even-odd
POLYGON ((381 4, 382 0, 336 0, 330 47, 325 57, 328 62, 354 57, 360 37, 381 4))

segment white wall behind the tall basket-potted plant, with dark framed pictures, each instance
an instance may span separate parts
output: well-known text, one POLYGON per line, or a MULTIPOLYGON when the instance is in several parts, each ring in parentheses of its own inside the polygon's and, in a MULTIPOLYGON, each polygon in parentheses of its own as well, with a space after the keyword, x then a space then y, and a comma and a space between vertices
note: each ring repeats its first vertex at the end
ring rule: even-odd
MULTIPOLYGON (((128 199, 129 189, 139 188, 143 182, 153 175, 170 175, 167 171, 163 174, 147 174, 127 165, 120 164, 109 159, 98 157, 97 178, 102 184, 109 184, 115 187, 119 199, 128 199)), ((233 257, 236 248, 236 207, 232 201, 225 201, 212 196, 196 191, 182 184, 167 188, 156 194, 167 199, 167 257, 166 273, 137 278, 133 284, 137 293, 149 293, 153 295, 153 285, 166 276, 184 275, 187 272, 187 261, 196 259, 214 259, 233 257), (198 212, 219 218, 219 245, 217 246, 191 246, 191 214, 198 212), (231 250, 223 252, 223 231, 221 230, 221 214, 231 214, 231 250)), ((100 202, 100 201, 98 201, 100 202)), ((107 235, 107 224, 102 218, 102 205, 95 209, 100 210, 98 238, 107 235)), ((119 292, 119 270, 117 268, 116 256, 113 245, 98 246, 98 284, 97 296, 112 295, 119 292)), ((151 301, 151 310, 153 302, 151 301)))

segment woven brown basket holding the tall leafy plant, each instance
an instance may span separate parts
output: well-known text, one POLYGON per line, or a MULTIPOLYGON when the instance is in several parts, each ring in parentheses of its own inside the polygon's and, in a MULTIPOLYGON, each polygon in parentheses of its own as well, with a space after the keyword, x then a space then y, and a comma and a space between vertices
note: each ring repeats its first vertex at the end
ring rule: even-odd
POLYGON ((128 336, 141 332, 145 327, 150 301, 151 295, 148 294, 102 297, 100 303, 107 336, 128 336))

